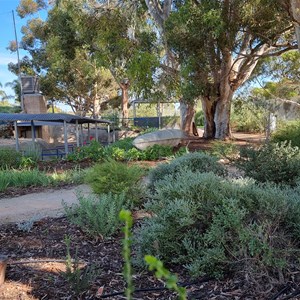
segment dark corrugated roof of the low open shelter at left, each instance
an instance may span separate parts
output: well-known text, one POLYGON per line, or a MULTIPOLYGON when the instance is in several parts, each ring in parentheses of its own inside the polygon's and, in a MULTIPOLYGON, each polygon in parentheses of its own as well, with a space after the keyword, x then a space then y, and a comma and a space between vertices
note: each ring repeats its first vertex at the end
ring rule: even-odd
POLYGON ((110 124, 110 121, 101 119, 91 119, 87 117, 80 117, 70 114, 8 114, 0 113, 0 121, 13 122, 13 121, 48 121, 48 122, 63 122, 75 124, 78 120, 78 124, 84 123, 106 123, 110 124))

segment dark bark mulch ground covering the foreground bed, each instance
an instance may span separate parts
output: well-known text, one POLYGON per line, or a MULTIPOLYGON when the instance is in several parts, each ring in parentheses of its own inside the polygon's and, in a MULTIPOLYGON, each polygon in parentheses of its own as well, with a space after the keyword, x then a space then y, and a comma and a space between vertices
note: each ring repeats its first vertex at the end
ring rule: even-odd
MULTIPOLYGON (((135 226, 139 226, 139 221, 135 226)), ((29 231, 24 228, 22 231, 17 224, 2 225, 0 254, 8 257, 8 267, 6 280, 0 286, 0 299, 126 299, 123 293, 116 294, 125 289, 121 239, 121 233, 110 240, 91 239, 64 217, 42 219, 29 231), (66 236, 71 240, 72 259, 77 257, 82 267, 78 281, 68 281, 64 275, 66 236), (96 275, 84 288, 82 274, 91 266, 96 275)), ((244 277, 195 280, 182 268, 171 270, 180 282, 187 284, 188 299, 300 299, 300 289, 295 283, 297 276, 284 285, 264 286, 253 285, 244 277)), ((133 279, 136 290, 143 290, 137 291, 134 299, 177 299, 174 293, 164 289, 162 281, 147 271, 135 270, 133 279)))

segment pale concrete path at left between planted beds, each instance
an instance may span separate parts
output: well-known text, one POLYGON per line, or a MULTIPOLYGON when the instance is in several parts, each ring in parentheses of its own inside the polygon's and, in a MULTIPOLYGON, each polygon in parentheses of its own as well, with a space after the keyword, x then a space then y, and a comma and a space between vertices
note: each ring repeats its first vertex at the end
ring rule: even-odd
POLYGON ((0 224, 36 221, 44 217, 58 217, 63 214, 62 200, 67 204, 77 202, 76 193, 91 193, 87 185, 47 190, 14 198, 0 199, 0 224))

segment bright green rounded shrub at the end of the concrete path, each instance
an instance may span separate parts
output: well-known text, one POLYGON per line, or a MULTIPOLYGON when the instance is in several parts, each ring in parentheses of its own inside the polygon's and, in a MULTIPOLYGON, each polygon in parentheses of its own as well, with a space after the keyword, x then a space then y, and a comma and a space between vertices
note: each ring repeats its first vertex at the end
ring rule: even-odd
POLYGON ((139 204, 142 198, 142 185, 140 179, 144 170, 138 166, 114 160, 97 164, 89 170, 86 182, 91 185, 96 194, 121 194, 128 199, 128 205, 139 204))

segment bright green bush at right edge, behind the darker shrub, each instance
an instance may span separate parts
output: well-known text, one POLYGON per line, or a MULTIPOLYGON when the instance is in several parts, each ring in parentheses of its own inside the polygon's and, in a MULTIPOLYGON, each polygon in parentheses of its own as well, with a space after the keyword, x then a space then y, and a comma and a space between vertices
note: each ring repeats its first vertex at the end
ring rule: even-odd
POLYGON ((300 148, 300 120, 285 122, 272 134, 274 143, 290 141, 293 147, 300 148))

